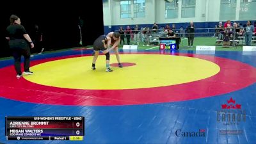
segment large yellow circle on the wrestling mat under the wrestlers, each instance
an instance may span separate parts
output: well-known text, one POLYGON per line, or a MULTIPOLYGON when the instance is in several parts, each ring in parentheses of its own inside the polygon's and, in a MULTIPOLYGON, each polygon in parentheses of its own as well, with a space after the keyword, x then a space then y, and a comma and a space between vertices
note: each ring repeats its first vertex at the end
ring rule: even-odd
MULTIPOLYGON (((111 67, 106 72, 106 56, 99 56, 96 70, 91 70, 92 56, 49 61, 31 67, 35 74, 24 76, 37 84, 86 90, 152 88, 198 81, 214 76, 220 67, 211 61, 186 56, 162 54, 121 54, 131 67, 111 67)), ((116 63, 115 54, 110 63, 116 63)))

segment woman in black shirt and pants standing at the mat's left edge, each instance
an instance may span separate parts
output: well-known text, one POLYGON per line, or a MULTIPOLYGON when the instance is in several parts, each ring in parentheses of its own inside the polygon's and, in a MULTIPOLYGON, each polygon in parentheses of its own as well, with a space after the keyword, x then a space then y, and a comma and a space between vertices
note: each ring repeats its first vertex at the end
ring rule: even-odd
POLYGON ((22 77, 22 72, 20 70, 20 59, 21 56, 24 56, 24 74, 29 75, 33 74, 29 70, 30 63, 30 47, 34 47, 34 44, 29 37, 28 33, 24 26, 20 25, 20 18, 17 15, 11 15, 10 17, 10 26, 6 29, 7 35, 6 39, 9 40, 10 49, 12 49, 14 66, 17 72, 17 79, 22 77))

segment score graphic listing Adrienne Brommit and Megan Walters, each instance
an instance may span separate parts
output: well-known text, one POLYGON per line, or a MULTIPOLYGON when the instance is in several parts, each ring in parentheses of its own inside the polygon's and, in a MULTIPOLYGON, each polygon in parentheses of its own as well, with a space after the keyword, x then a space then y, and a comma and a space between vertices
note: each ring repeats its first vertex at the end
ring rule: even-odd
POLYGON ((6 116, 7 140, 83 140, 83 116, 6 116))

